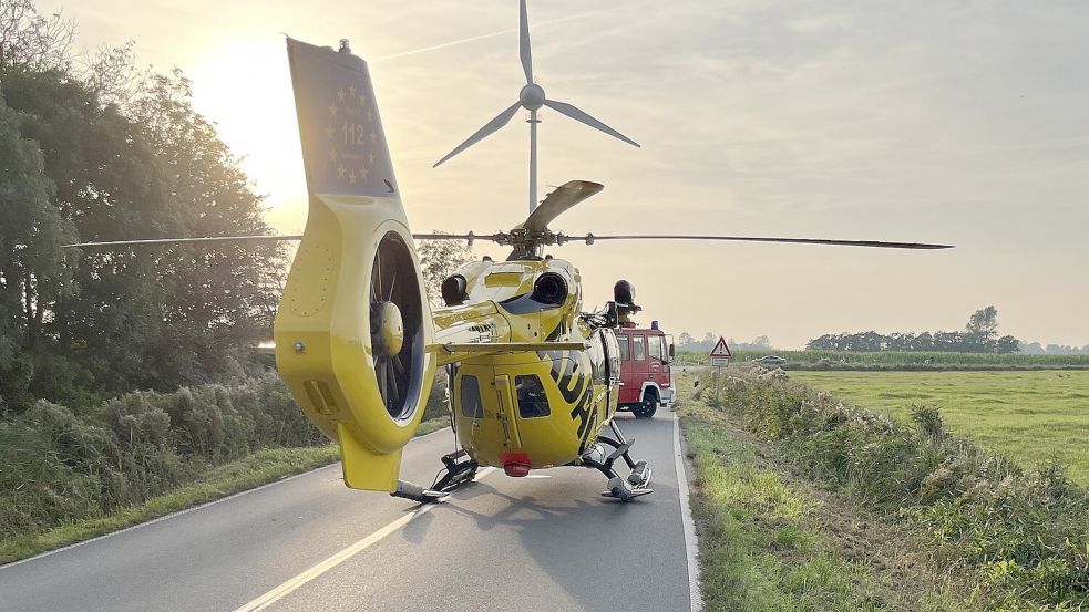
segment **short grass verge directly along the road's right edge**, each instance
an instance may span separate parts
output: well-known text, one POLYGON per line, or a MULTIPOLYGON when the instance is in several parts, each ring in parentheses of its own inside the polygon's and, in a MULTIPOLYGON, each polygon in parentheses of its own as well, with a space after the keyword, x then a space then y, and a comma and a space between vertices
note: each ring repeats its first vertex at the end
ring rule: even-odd
POLYGON ((723 413, 681 408, 710 611, 975 610, 870 517, 791 481, 723 413))

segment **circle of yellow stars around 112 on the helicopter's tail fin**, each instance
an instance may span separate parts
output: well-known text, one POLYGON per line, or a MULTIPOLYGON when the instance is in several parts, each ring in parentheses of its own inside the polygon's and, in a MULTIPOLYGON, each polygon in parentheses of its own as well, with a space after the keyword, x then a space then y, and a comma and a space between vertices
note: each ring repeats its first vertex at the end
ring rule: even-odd
POLYGON ((329 163, 337 178, 348 185, 367 180, 374 166, 378 132, 374 111, 362 90, 355 84, 340 87, 329 105, 326 138, 329 141, 329 163))

